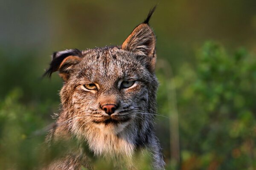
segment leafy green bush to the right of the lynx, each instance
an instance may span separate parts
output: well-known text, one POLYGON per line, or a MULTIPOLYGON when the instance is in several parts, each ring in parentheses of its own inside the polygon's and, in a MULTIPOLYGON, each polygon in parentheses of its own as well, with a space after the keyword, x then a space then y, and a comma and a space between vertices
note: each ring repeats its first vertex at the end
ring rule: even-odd
POLYGON ((207 42, 174 80, 184 168, 256 168, 255 56, 207 42))

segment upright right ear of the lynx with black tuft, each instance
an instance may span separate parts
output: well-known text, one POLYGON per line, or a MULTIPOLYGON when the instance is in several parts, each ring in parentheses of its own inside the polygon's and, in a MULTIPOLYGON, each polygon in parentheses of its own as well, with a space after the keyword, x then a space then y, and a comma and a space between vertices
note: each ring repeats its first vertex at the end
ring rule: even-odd
POLYGON ((154 66, 156 62, 155 55, 155 44, 156 37, 153 30, 148 25, 148 21, 153 14, 155 7, 149 12, 147 19, 144 23, 134 28, 132 33, 126 38, 122 43, 122 49, 126 51, 131 51, 137 56, 143 57, 143 59, 148 61, 149 69, 154 71, 154 66))

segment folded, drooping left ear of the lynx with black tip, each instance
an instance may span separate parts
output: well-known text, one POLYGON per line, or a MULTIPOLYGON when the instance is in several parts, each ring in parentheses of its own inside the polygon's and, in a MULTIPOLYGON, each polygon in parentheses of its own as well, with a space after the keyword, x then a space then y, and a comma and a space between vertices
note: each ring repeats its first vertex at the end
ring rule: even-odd
POLYGON ((70 72, 74 65, 81 61, 81 51, 78 49, 71 49, 65 51, 58 51, 52 54, 52 62, 49 68, 44 73, 44 76, 51 77, 52 73, 59 71, 60 77, 67 81, 70 72))

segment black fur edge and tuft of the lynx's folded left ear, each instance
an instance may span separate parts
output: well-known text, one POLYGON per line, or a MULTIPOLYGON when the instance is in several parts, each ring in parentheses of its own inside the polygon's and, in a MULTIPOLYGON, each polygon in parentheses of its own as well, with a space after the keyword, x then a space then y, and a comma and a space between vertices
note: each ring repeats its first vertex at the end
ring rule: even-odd
POLYGON ((65 51, 58 51, 52 54, 52 62, 50 63, 49 68, 43 74, 43 77, 51 77, 52 73, 58 71, 60 68, 61 62, 69 56, 78 56, 81 57, 81 51, 78 49, 70 49, 65 51))

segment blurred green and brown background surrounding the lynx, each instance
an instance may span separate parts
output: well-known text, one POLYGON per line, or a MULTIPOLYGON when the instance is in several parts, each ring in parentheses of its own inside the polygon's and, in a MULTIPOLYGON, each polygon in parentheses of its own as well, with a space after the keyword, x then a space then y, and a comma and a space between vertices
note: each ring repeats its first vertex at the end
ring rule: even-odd
POLYGON ((255 0, 0 0, 0 169, 32 169, 62 81, 54 51, 120 45, 159 4, 156 133, 167 169, 256 170, 255 0))

